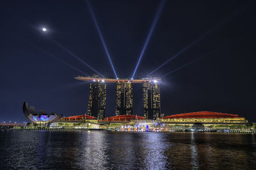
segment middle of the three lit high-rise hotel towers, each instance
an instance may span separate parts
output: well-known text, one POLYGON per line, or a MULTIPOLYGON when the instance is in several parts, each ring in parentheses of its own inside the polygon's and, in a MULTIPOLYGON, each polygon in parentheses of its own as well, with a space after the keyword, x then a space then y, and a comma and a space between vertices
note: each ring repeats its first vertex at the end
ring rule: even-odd
POLYGON ((132 83, 116 83, 116 115, 132 115, 132 83))

